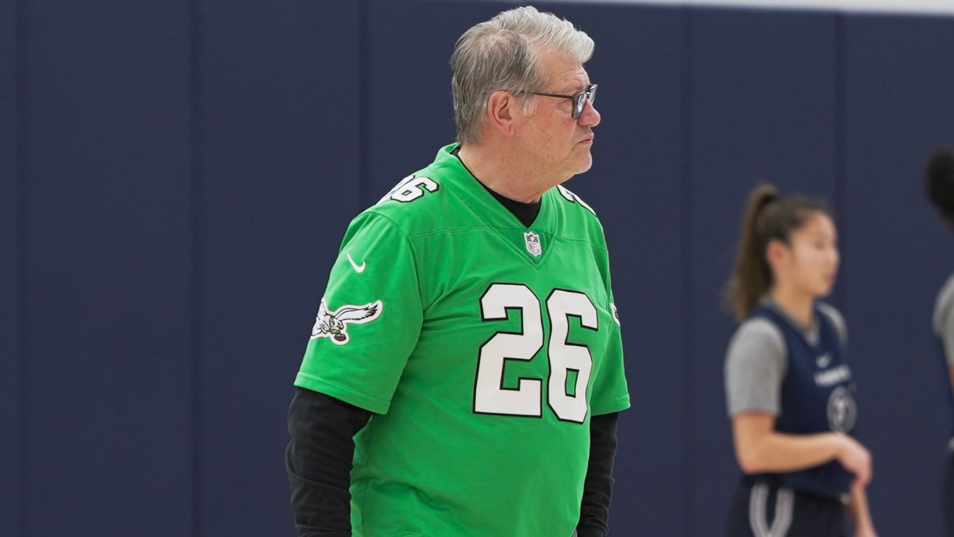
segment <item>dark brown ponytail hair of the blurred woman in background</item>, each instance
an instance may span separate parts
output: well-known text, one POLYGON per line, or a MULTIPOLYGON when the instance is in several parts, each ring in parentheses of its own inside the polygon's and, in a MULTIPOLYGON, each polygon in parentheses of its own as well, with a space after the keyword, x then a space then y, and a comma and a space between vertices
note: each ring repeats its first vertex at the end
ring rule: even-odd
POLYGON ((798 194, 780 194, 771 184, 760 184, 749 194, 736 268, 725 289, 726 302, 736 313, 736 319, 748 317, 772 287, 772 269, 765 257, 769 244, 790 244, 792 233, 818 212, 831 216, 826 204, 798 194))

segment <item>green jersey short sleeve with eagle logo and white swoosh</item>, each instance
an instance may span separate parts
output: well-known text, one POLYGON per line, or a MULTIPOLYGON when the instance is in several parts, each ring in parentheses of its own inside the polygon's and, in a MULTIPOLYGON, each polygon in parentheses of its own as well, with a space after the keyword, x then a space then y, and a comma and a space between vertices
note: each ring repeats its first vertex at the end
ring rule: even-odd
POLYGON ((344 235, 295 385, 384 414, 422 322, 407 237, 364 213, 344 235))

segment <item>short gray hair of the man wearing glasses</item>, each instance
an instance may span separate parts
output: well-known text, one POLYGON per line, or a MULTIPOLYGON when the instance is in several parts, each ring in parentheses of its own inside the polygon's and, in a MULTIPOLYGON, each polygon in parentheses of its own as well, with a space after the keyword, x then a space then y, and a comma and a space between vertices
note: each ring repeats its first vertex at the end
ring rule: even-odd
POLYGON ((547 84, 539 55, 556 51, 583 64, 593 54, 593 40, 570 21, 532 6, 503 11, 464 32, 450 56, 457 140, 480 140, 487 101, 494 92, 516 95, 524 111, 531 112, 532 96, 523 92, 539 91, 547 84))

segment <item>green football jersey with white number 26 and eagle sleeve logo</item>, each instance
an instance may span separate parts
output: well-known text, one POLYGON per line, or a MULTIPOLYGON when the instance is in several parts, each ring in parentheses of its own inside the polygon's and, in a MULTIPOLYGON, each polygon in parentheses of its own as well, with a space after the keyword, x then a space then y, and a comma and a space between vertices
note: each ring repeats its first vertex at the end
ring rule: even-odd
POLYGON ((603 229, 562 186, 524 226, 456 149, 348 227, 295 384, 374 413, 355 536, 570 537, 630 406, 603 229))

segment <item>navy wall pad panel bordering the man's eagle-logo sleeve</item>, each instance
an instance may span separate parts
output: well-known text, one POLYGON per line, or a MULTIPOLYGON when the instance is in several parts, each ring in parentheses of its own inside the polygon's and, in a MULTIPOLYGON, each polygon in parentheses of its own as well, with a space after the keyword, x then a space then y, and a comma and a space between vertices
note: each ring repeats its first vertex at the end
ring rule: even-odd
POLYGON ((359 210, 359 10, 200 7, 197 530, 273 535, 291 528, 292 381, 359 210))

